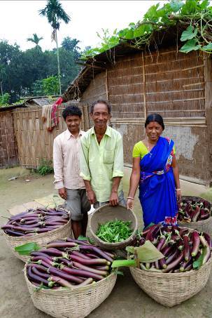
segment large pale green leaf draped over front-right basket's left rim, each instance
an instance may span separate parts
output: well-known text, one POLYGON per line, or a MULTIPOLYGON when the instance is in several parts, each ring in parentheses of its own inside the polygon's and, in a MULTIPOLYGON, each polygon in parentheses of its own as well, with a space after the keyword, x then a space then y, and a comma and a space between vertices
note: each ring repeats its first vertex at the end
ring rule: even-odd
POLYGON ((134 249, 141 263, 152 263, 164 258, 164 255, 150 241, 146 241, 142 246, 134 249))

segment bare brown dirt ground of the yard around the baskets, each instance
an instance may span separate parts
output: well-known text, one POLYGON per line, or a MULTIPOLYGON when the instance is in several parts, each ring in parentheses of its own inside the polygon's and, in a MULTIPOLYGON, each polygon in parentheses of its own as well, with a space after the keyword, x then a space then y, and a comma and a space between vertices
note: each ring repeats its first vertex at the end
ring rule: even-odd
MULTIPOLYGON (((10 168, 0 171, 0 216, 8 216, 8 208, 16 204, 45 197, 55 192, 52 185, 52 175, 41 177, 28 175, 29 171, 21 168, 10 168), (18 176, 17 180, 8 178, 18 176), (26 180, 30 180, 26 182, 26 180)), ((123 180, 125 194, 129 186, 130 169, 125 169, 123 180)), ((197 195, 211 199, 212 190, 202 186, 181 181, 183 194, 197 195)), ((141 208, 136 200, 134 211, 141 225, 141 208)), ((0 224, 5 223, 0 218, 0 224)), ((6 246, 2 233, 0 241, 0 317, 1 318, 45 318, 47 314, 37 310, 27 290, 23 276, 23 263, 15 258, 6 246)), ((190 300, 172 308, 163 307, 146 295, 134 282, 129 270, 124 270, 124 277, 118 277, 111 295, 94 310, 89 318, 211 318, 212 317, 212 279, 209 278, 206 287, 190 300)))

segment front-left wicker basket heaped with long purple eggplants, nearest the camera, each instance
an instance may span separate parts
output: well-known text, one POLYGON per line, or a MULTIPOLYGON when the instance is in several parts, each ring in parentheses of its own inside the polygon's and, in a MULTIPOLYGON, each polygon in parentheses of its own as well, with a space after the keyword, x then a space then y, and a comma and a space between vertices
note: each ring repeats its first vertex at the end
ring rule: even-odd
POLYGON ((115 286, 113 258, 88 241, 71 238, 31 252, 24 277, 34 306, 52 317, 87 317, 115 286))

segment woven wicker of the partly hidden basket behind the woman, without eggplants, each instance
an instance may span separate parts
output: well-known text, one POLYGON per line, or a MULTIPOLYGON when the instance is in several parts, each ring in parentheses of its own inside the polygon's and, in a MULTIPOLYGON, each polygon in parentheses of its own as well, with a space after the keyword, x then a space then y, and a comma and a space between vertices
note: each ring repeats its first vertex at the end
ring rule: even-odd
MULTIPOLYGON (((190 196, 183 196, 182 200, 205 200, 201 197, 190 197, 190 196)), ((209 204, 211 204, 209 202, 209 204)), ((210 235, 212 235, 212 217, 210 216, 206 220, 198 221, 198 222, 184 222, 184 221, 178 221, 178 226, 180 227, 189 227, 190 229, 197 230, 199 232, 206 232, 210 235)))

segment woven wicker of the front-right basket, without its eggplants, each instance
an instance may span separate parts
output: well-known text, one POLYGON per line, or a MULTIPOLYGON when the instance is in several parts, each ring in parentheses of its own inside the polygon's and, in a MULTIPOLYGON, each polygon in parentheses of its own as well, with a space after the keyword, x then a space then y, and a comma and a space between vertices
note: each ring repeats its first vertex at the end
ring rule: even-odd
POLYGON ((160 273, 130 267, 136 284, 148 296, 167 307, 178 305, 199 293, 211 273, 211 258, 199 270, 182 273, 160 273))

